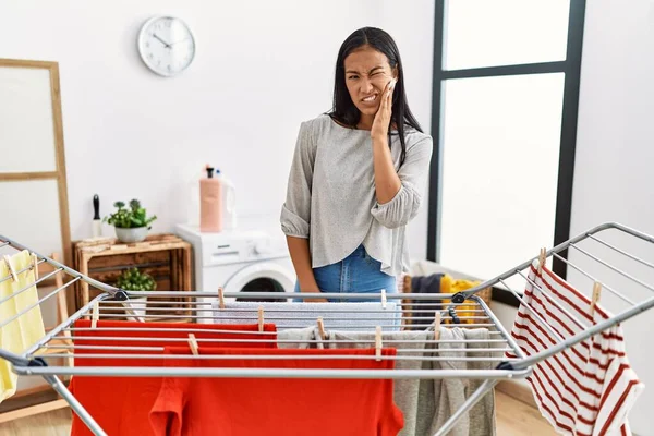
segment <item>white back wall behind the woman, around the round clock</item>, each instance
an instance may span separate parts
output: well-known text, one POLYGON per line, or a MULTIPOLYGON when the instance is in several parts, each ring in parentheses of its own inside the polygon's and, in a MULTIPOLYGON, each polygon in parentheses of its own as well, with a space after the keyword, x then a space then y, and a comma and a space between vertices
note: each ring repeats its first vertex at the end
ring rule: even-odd
POLYGON ((90 235, 95 193, 102 215, 138 197, 159 217, 154 231, 171 230, 205 162, 235 183, 241 215, 277 220, 300 122, 330 109, 338 48, 354 29, 393 35, 428 128, 433 3, 0 0, 1 57, 59 62, 73 239, 90 235), (194 32, 196 58, 178 77, 138 58, 136 35, 155 14, 194 32))

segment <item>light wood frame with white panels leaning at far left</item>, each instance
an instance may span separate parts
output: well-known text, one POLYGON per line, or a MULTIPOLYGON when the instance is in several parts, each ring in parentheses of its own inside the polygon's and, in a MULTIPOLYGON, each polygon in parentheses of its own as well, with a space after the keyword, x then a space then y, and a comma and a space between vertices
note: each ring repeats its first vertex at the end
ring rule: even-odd
POLYGON ((71 262, 59 64, 0 59, 0 229, 71 262))

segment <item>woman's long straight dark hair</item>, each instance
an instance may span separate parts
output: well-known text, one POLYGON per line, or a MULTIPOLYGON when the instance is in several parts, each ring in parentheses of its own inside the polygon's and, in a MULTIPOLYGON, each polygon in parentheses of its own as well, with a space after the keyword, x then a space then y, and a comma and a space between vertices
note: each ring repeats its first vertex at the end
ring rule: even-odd
POLYGON ((392 112, 390 116, 390 125, 388 126, 388 146, 391 141, 391 126, 395 124, 398 128, 400 135, 400 144, 402 145, 402 154, 400 155, 400 166, 404 162, 407 156, 407 143, 404 140, 404 125, 410 125, 413 129, 422 132, 413 113, 409 109, 407 102, 407 93, 404 92, 404 72, 402 71, 402 61, 400 59, 400 50, 395 40, 386 32, 376 27, 362 27, 354 31, 341 45, 336 60, 336 76, 334 77, 334 106, 329 117, 341 124, 352 129, 356 128, 361 112, 354 106, 348 86, 346 85, 346 58, 355 49, 362 46, 371 46, 377 51, 383 52, 388 58, 388 63, 391 69, 398 70, 398 83, 396 84, 392 96, 392 112))

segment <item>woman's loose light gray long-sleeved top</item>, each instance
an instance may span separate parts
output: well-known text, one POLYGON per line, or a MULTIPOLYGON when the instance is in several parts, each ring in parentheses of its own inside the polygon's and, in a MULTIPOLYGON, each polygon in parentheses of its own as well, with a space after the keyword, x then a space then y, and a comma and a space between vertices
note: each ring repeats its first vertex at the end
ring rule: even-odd
MULTIPOLYGON (((301 124, 280 220, 287 235, 308 238, 314 268, 342 261, 363 243, 384 272, 408 270, 405 226, 423 201, 432 137, 409 126, 404 137, 407 157, 398 170, 402 186, 390 202, 379 204, 371 132, 343 128, 328 116, 301 124)), ((400 154, 396 134, 396 169, 400 154)))

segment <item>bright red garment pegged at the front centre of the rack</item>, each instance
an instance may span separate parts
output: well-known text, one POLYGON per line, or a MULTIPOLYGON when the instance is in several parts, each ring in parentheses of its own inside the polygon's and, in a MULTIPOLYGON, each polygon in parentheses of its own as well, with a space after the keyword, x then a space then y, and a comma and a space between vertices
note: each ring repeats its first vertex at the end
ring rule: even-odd
MULTIPOLYGON (((189 354, 187 349, 168 349, 189 354)), ((396 355, 384 349, 383 355, 396 355)), ((271 360, 266 355, 351 354, 374 349, 229 350, 201 348, 201 354, 256 354, 242 360, 167 360, 169 366, 391 370, 393 360, 271 360)), ((157 436, 389 436, 403 427, 392 400, 391 379, 182 378, 166 377, 150 422, 157 436), (219 433, 218 433, 219 429, 219 433)))

